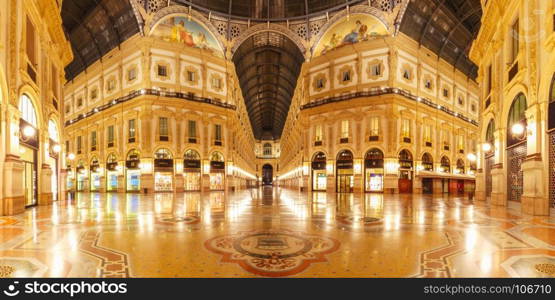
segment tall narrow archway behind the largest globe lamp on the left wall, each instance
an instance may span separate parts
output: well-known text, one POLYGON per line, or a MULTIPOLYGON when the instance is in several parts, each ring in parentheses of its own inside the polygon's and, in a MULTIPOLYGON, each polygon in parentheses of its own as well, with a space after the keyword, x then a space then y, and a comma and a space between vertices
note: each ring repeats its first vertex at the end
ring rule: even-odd
POLYGON ((22 181, 25 206, 38 203, 39 126, 37 110, 27 94, 19 98, 19 151, 23 162, 22 181))

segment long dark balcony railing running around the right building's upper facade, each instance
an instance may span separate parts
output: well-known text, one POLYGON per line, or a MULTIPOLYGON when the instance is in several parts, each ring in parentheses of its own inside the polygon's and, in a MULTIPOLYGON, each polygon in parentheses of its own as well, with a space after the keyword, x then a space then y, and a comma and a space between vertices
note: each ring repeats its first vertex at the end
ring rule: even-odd
POLYGON ((355 92, 355 93, 344 94, 344 95, 340 95, 340 96, 328 97, 328 98, 317 100, 317 101, 314 101, 314 102, 311 102, 311 103, 307 103, 307 104, 301 106, 301 109, 309 109, 309 108, 318 107, 318 106, 321 106, 321 105, 326 105, 326 104, 329 104, 329 103, 347 101, 347 100, 356 99, 356 98, 375 97, 375 96, 388 95, 388 94, 398 94, 398 95, 404 96, 405 98, 407 98, 409 100, 420 102, 424 105, 427 105, 429 107, 441 110, 441 111, 443 111, 443 112, 445 112, 449 115, 457 117, 457 118, 459 118, 459 119, 461 119, 465 122, 468 122, 468 123, 470 123, 474 126, 478 126, 477 121, 472 120, 472 119, 464 116, 463 114, 457 113, 457 112, 455 112, 453 110, 450 110, 447 107, 443 107, 439 104, 435 104, 435 103, 433 103, 432 101, 430 101, 426 98, 422 98, 422 97, 418 97, 416 95, 413 95, 408 91, 398 89, 398 88, 390 88, 390 87, 384 87, 384 88, 371 90, 371 91, 355 92))

